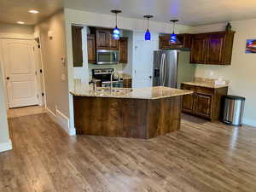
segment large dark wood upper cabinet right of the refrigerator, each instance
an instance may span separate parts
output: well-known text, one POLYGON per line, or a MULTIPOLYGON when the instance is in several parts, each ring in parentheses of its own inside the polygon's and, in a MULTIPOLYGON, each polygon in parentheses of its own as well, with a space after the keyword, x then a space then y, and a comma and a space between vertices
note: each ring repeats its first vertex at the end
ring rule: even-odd
POLYGON ((192 35, 190 63, 230 65, 235 32, 192 35))

